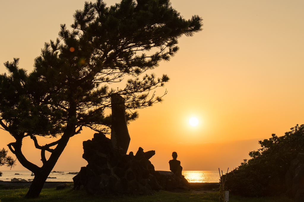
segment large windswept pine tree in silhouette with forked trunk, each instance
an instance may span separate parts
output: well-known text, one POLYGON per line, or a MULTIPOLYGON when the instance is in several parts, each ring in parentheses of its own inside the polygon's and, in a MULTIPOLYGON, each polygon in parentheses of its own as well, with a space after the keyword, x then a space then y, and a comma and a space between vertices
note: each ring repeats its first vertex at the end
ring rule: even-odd
POLYGON ((35 174, 26 197, 38 197, 69 138, 82 127, 109 132, 105 109, 111 108, 111 95, 124 97, 127 121, 138 117, 135 109, 162 101, 167 91, 156 96, 154 89, 169 77, 146 71, 169 61, 178 38, 200 31, 202 19, 185 20, 169 0, 122 0, 111 7, 97 0, 74 13, 71 31, 60 26, 59 38, 45 43, 30 74, 15 58, 4 64, 8 75, 0 76, 0 126, 16 139, 9 149, 35 174), (123 81, 125 87, 117 88, 123 81), (42 146, 37 136, 60 138, 42 146), (41 150, 42 167, 22 154, 25 137, 41 150))

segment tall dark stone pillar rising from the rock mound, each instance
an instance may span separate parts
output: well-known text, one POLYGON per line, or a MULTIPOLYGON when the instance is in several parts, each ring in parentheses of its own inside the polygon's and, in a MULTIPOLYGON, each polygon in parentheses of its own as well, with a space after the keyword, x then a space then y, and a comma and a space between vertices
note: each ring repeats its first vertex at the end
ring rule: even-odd
POLYGON ((130 135, 126 121, 125 102, 121 95, 113 94, 111 97, 112 106, 112 126, 111 141, 113 147, 121 154, 127 154, 130 135))

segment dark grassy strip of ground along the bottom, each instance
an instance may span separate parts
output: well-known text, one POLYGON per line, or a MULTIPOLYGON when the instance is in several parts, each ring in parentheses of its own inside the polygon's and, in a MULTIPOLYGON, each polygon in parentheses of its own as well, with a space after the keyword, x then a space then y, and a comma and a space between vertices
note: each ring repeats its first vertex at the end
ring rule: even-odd
MULTIPOLYGON (((158 191, 148 196, 132 195, 107 195, 95 197, 86 194, 84 191, 73 191, 70 188, 55 190, 55 188, 43 189, 40 197, 36 199, 25 199, 24 196, 28 189, 4 189, 0 187, 0 202, 67 202, 67 201, 87 201, 87 202, 219 202, 218 192, 205 194, 192 194, 191 192, 173 193, 168 191, 158 191)), ((15 187, 16 188, 16 187, 15 187)), ((246 198, 230 195, 229 202, 292 202, 288 198, 262 197, 246 198)))

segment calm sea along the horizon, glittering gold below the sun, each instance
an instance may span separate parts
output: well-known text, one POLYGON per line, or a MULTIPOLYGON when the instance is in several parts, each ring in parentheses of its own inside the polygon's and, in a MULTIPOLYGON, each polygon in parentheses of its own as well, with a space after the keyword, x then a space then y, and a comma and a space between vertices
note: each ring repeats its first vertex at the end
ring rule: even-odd
MULTIPOLYGON (((11 181, 13 178, 24 179, 31 181, 34 176, 31 176, 31 171, 1 171, 2 177, 0 180, 11 181)), ((79 171, 57 171, 56 173, 50 173, 47 182, 72 182, 73 177, 76 174, 68 174, 79 171), (56 178, 54 178, 56 177, 56 178)), ((219 182, 219 171, 182 171, 182 175, 188 180, 188 182, 219 182)))

